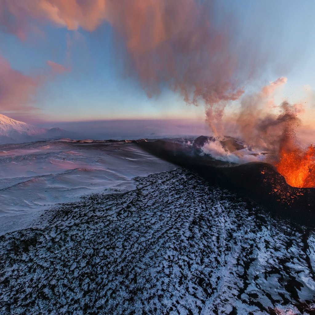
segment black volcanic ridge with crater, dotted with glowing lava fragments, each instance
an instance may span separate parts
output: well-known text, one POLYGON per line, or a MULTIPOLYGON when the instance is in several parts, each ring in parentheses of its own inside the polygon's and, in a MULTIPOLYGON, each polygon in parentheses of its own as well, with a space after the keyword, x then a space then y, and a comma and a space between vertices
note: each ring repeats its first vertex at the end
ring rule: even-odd
MULTIPOLYGON (((313 226, 315 188, 290 186, 270 163, 237 164, 201 155, 200 150, 206 141, 214 139, 200 136, 193 141, 192 146, 163 140, 141 142, 138 145, 164 160, 195 171, 211 185, 248 197, 277 215, 313 226)), ((239 150, 243 147, 232 137, 224 143, 229 146, 237 144, 239 150)))

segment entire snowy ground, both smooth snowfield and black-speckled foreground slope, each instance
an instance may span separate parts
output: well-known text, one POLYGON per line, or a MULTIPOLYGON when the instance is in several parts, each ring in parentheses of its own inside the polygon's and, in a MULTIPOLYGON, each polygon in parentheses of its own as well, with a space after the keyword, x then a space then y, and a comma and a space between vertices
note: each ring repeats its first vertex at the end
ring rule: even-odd
POLYGON ((135 143, 0 151, 1 315, 314 314, 313 228, 135 143))

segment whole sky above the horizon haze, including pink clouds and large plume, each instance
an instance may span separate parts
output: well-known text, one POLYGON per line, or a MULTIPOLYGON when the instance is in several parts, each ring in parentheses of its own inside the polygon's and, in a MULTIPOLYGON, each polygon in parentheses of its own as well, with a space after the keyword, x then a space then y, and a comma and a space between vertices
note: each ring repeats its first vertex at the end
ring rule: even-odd
MULTIPOLYGON (((312 125, 315 2, 0 0, 0 112, 41 126, 192 120, 278 77, 312 125)), ((226 105, 227 104, 227 105, 226 105)), ((315 120, 314 120, 315 122, 315 120)))

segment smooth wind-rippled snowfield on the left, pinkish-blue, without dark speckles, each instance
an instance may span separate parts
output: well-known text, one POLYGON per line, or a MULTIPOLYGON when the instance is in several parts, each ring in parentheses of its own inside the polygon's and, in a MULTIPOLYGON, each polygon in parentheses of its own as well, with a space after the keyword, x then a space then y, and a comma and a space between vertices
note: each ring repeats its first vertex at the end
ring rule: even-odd
POLYGON ((18 225, 22 214, 90 193, 125 192, 135 188, 136 176, 175 168, 135 143, 61 139, 2 145, 0 234, 18 225))

